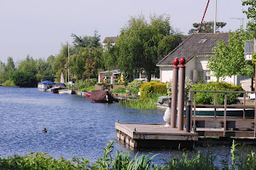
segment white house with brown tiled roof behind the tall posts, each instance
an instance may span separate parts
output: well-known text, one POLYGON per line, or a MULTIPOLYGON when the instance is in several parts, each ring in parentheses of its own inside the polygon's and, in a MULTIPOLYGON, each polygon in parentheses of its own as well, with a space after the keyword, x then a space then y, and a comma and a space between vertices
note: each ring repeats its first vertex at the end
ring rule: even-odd
MULTIPOLYGON (((170 54, 160 59, 157 66, 160 67, 160 82, 170 82, 172 80, 173 60, 181 57, 186 59, 186 77, 193 82, 216 82, 217 77, 212 76, 212 71, 207 68, 207 56, 213 56, 212 48, 217 46, 218 41, 229 43, 229 33, 197 33, 191 34, 170 54)), ((251 88, 249 77, 232 76, 224 77, 219 81, 230 82, 241 85, 247 91, 251 88)))

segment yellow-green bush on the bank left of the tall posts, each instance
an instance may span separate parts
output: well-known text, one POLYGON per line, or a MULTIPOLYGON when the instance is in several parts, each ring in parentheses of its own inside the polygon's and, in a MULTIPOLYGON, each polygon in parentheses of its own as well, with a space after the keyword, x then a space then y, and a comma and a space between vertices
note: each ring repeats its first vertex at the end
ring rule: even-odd
POLYGON ((142 85, 140 98, 144 99, 151 97, 152 94, 166 94, 166 83, 162 82, 147 82, 142 85))

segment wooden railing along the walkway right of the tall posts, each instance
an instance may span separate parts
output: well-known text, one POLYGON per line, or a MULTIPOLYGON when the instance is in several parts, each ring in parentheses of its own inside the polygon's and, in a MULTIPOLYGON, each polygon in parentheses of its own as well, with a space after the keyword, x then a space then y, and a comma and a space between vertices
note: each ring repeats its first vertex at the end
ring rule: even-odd
POLYGON ((254 105, 247 105, 247 94, 255 94, 256 92, 253 91, 201 91, 201 90, 191 90, 189 91, 189 100, 192 101, 192 107, 190 111, 190 115, 193 116, 191 119, 191 126, 195 126, 195 120, 196 120, 196 108, 214 108, 214 120, 222 119, 223 121, 223 136, 226 135, 227 130, 227 109, 242 109, 242 120, 246 120, 246 109, 253 109, 254 110, 254 116, 253 116, 253 130, 254 130, 254 138, 256 133, 256 99, 254 99, 254 105), (196 94, 197 93, 214 93, 214 104, 213 105, 197 105, 196 104, 196 94), (217 94, 224 94, 224 105, 217 105, 217 94), (228 99, 227 94, 243 94, 243 102, 242 105, 228 105, 228 99), (224 116, 223 117, 217 117, 217 109, 218 108, 224 108, 224 116), (194 111, 194 114, 192 114, 192 111, 194 111))

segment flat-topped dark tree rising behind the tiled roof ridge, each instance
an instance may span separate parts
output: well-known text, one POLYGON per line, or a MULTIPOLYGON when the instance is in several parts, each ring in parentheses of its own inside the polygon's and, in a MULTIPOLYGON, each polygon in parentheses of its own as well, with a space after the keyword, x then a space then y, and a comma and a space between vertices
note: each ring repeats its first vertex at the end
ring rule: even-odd
MULTIPOLYGON (((191 30, 189 30, 189 34, 192 34, 192 33, 197 33, 198 32, 198 29, 199 29, 199 26, 200 26, 201 23, 194 23, 193 24, 193 27, 191 30)), ((227 23, 224 23, 224 22, 216 22, 216 32, 218 32, 219 28, 223 28, 224 26, 226 26, 227 23)), ((201 24, 201 29, 200 29, 200 33, 212 33, 213 32, 213 25, 214 25, 214 22, 213 21, 210 21, 210 22, 203 22, 201 24)))

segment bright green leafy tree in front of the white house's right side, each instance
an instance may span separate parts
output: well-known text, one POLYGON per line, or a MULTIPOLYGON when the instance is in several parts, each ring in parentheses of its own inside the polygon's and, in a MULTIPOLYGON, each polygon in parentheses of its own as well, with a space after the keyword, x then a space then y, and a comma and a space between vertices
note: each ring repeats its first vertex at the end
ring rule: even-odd
POLYGON ((244 42, 253 35, 243 29, 230 32, 229 44, 218 42, 213 48, 214 56, 208 57, 207 67, 215 77, 231 77, 233 75, 253 77, 253 65, 244 59, 244 42))

